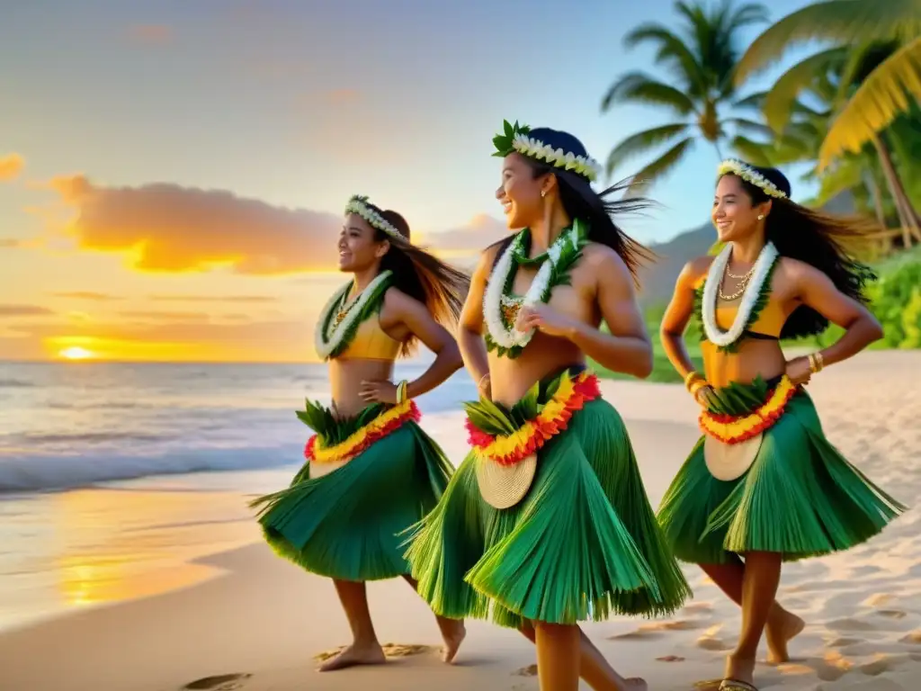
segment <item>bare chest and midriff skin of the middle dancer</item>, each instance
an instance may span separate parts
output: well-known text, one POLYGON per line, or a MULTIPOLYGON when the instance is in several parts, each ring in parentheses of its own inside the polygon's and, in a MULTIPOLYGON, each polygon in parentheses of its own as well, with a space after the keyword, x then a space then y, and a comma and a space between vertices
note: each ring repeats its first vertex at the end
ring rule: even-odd
MULTIPOLYGON (((534 270, 520 268, 515 279, 515 292, 524 294, 534 274, 534 270)), ((549 307, 597 328, 600 311, 587 289, 588 270, 577 266, 571 277, 572 286, 554 288, 549 307)), ((584 363, 585 354, 571 341, 537 332, 515 359, 498 357, 495 351, 489 354, 493 400, 507 406, 516 404, 536 381, 566 367, 584 363)))

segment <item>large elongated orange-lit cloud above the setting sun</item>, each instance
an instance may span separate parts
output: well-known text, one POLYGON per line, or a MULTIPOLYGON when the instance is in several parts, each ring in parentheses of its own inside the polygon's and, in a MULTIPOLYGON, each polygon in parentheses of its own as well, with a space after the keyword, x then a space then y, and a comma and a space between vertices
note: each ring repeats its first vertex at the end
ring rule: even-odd
POLYGON ((329 270, 337 262, 338 215, 164 182, 103 187, 75 175, 49 184, 76 210, 67 229, 78 247, 132 252, 144 271, 224 265, 237 274, 280 275, 329 270))

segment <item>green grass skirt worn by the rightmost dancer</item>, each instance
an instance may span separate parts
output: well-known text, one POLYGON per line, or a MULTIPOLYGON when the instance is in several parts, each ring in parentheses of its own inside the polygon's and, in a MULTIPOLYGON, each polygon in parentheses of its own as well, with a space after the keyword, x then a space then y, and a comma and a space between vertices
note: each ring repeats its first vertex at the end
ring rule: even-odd
POLYGON ((795 561, 869 540, 903 510, 825 438, 800 389, 735 480, 710 474, 702 437, 662 499, 659 522, 685 562, 722 564, 750 551, 795 561))

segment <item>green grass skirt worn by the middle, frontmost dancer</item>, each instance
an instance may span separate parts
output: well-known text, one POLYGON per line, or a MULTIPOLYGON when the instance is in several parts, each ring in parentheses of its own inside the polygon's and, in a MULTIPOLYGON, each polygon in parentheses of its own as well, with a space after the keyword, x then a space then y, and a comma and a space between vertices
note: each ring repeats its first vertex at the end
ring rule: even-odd
POLYGON ((575 624, 669 613, 689 596, 610 404, 595 399, 573 414, 510 509, 481 497, 477 462, 472 451, 406 553, 438 615, 575 624))

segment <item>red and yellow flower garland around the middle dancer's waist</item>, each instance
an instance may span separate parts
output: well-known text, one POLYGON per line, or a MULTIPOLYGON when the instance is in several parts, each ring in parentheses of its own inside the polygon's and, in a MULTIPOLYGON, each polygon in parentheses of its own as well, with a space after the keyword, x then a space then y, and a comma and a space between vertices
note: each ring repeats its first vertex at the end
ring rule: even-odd
POLYGON ((583 371, 575 378, 565 375, 560 378, 559 388, 536 416, 515 431, 502 435, 492 435, 477 427, 468 408, 465 426, 470 444, 495 463, 514 465, 542 449, 547 441, 567 427, 574 412, 600 395, 598 377, 589 371, 583 371))

